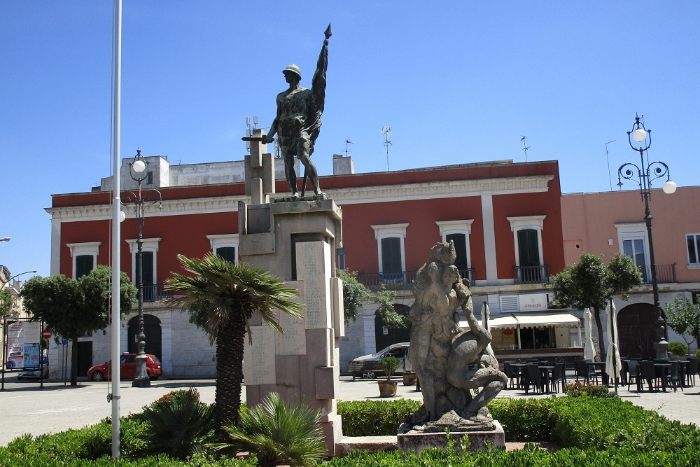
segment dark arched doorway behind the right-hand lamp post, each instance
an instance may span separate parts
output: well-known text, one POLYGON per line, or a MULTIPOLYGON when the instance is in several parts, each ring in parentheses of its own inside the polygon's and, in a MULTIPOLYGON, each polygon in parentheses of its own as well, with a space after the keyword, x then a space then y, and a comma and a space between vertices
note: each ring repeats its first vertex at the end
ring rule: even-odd
POLYGON ((617 312, 619 354, 629 357, 654 358, 657 315, 650 303, 633 303, 617 312))

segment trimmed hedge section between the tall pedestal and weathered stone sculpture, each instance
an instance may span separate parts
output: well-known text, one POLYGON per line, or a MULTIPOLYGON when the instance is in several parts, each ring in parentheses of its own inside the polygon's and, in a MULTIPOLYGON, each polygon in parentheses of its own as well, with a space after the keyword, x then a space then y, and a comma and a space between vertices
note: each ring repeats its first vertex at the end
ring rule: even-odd
POLYGON ((395 435, 407 416, 423 405, 419 400, 351 400, 339 401, 346 436, 395 435))

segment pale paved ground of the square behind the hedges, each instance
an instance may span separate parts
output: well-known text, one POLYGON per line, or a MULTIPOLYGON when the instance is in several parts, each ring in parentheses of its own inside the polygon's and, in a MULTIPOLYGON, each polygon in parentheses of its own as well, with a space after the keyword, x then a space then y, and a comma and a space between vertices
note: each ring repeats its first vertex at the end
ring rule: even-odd
MULTIPOLYGON (((0 391, 0 414, 3 420, 0 445, 7 445, 23 433, 38 435, 82 428, 111 416, 111 403, 107 402, 109 386, 106 382, 81 382, 76 387, 64 386, 62 382, 45 382, 43 389, 38 386, 35 382, 17 382, 13 375, 6 374, 5 390, 0 391)), ((204 402, 214 402, 215 382, 211 379, 159 380, 152 382, 150 388, 133 388, 131 381, 125 381, 120 384, 120 413, 125 415, 140 412, 141 407, 165 393, 189 387, 197 388, 204 402)), ((696 424, 700 421, 700 385, 685 388, 685 391, 679 389, 675 393, 636 393, 624 388, 619 391, 619 395, 647 410, 656 410, 669 419, 696 424)), ((501 396, 547 397, 525 396, 522 391, 512 389, 503 391, 501 396)), ((422 395, 415 391, 415 386, 403 386, 401 383, 398 385, 398 397, 422 400, 422 395)), ((379 399, 377 383, 363 379, 353 382, 349 377, 342 377, 338 399, 379 399)))

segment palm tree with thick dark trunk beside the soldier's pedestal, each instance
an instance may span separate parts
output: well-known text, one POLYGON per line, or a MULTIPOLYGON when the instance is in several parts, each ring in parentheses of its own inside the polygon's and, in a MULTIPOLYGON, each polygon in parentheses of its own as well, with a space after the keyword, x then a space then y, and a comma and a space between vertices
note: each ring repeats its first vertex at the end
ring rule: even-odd
POLYGON ((178 255, 184 269, 194 275, 171 273, 165 288, 176 295, 171 305, 181 306, 195 323, 216 342, 216 419, 219 426, 240 420, 243 352, 246 332, 252 343, 250 323, 254 312, 262 321, 283 333, 276 309, 302 318, 303 305, 291 301, 295 288, 262 267, 232 263, 207 253, 202 259, 178 255))

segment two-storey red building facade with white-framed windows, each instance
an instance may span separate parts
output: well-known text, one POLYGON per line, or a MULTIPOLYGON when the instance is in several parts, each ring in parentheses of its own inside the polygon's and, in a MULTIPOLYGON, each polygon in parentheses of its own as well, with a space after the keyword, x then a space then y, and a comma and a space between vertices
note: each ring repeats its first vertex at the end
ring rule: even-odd
MULTIPOLYGON (((334 158, 348 162, 342 156, 334 158)), ((167 376, 213 375, 214 349, 207 337, 188 323, 187 316, 165 307, 160 285, 172 271, 180 270, 180 253, 202 257, 214 251, 237 260, 238 202, 250 202, 243 177, 223 163, 170 166, 160 156, 147 160, 155 176, 143 188, 160 191, 162 209, 153 205, 146 211, 143 228, 146 351, 161 358, 167 376), (154 348, 156 344, 159 347, 154 348)), ((135 188, 128 162, 120 174, 125 192, 135 188)), ((395 290, 398 311, 411 305, 412 277, 428 259, 430 247, 447 240, 455 242, 457 266, 471 280, 477 314, 482 303, 488 303, 496 317, 523 312, 528 297, 532 302, 549 300, 549 276, 565 264, 557 162, 345 172, 321 176, 321 187, 343 213, 337 264, 357 271, 372 290, 380 284, 395 290)), ((283 197, 288 195, 286 181, 279 179, 279 170, 277 174, 277 196, 283 197)), ((103 179, 99 190, 52 197, 47 209, 52 215, 52 274, 76 277, 95 265, 111 263, 110 186, 110 179, 103 179)), ((122 269, 135 277, 137 224, 130 206, 122 210, 126 219, 121 226, 120 260, 122 269)), ((384 328, 376 308, 368 303, 360 319, 347 328, 341 342, 342 369, 351 358, 406 338, 406 333, 384 328)), ((120 342, 124 351, 133 344, 133 328, 133 319, 124 323, 120 342)), ((539 338, 533 331, 533 346, 538 341, 545 347, 571 347, 574 331, 552 328, 549 337, 539 338)), ((99 334, 81 338, 79 371, 108 358, 109 342, 99 334)), ((496 334, 497 350, 514 348, 512 332, 496 334)), ((56 363, 51 368, 59 370, 56 363)))

